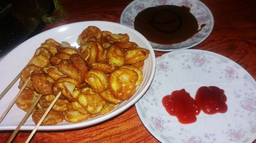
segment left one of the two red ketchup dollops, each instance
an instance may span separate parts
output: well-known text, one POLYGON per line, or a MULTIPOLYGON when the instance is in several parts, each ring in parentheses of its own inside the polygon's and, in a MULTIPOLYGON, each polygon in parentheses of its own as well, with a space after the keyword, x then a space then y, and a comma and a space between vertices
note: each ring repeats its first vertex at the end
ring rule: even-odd
POLYGON ((171 116, 176 116, 180 123, 189 124, 197 121, 201 109, 196 101, 184 89, 174 91, 162 99, 162 104, 171 116))

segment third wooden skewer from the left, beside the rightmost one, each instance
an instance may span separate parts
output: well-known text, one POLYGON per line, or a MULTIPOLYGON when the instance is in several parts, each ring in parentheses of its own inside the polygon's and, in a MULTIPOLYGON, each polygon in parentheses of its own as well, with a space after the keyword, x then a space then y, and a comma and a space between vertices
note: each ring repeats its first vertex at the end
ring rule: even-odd
POLYGON ((22 127, 22 125, 27 121, 27 119, 29 118, 29 116, 31 115, 31 112, 34 110, 36 104, 38 103, 38 101, 41 99, 42 95, 40 94, 37 98, 36 101, 32 104, 32 106, 29 108, 29 110, 27 111, 25 117, 22 119, 22 121, 20 121, 20 123, 18 124, 17 128, 13 131, 12 135, 10 136, 10 138, 8 139, 8 143, 10 143, 13 138, 15 137, 15 135, 17 134, 17 132, 19 131, 20 127, 22 127))

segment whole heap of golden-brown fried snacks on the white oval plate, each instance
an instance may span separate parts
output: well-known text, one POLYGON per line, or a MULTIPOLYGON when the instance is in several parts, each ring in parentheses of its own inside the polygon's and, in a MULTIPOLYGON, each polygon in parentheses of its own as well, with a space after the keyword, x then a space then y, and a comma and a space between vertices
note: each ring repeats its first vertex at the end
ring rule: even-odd
POLYGON ((143 80, 142 69, 149 50, 130 41, 127 34, 113 34, 89 26, 78 36, 78 49, 68 42, 47 39, 36 49, 23 69, 19 88, 31 81, 16 104, 28 110, 41 97, 32 119, 37 123, 52 103, 42 125, 56 125, 64 119, 77 123, 105 115, 129 99, 143 80))

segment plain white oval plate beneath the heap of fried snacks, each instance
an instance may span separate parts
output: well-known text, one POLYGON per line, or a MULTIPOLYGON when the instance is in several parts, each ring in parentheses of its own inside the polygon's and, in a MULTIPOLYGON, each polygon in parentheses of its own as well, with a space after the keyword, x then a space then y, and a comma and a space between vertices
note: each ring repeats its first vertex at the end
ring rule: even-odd
MULTIPOLYGON (((145 66, 143 69, 143 82, 139 85, 139 87, 137 87, 135 94, 129 100, 126 100, 121 104, 117 105, 113 111, 106 115, 76 124, 62 122, 56 126, 40 126, 38 130, 74 129, 100 123, 118 115, 125 109, 129 108, 145 93, 147 88, 150 86, 150 83, 154 77, 156 64, 154 50, 150 43, 148 43, 148 41, 140 33, 127 26, 106 21, 85 21, 62 25, 46 32, 40 33, 20 44, 9 54, 7 54, 0 61, 0 92, 2 92, 7 87, 7 85, 14 79, 14 77, 26 66, 26 64, 32 58, 35 49, 38 48, 40 44, 43 43, 46 39, 53 38, 58 42, 67 41, 72 46, 78 47, 76 39, 78 35, 84 30, 84 28, 88 27, 89 25, 97 26, 102 31, 108 30, 112 33, 127 33, 130 36, 130 41, 136 42, 139 46, 150 50, 150 56, 148 57, 148 59, 145 60, 145 66)), ((13 97, 18 93, 17 86, 18 81, 14 84, 10 91, 0 100, 0 115, 3 114, 4 110, 9 105, 13 97)), ((25 112, 19 109, 16 105, 13 105, 6 118, 0 124, 0 130, 15 129, 24 116, 25 112)), ((34 123, 32 122, 32 118, 30 117, 24 124, 24 126, 22 126, 20 129, 30 130, 33 128, 34 123)))

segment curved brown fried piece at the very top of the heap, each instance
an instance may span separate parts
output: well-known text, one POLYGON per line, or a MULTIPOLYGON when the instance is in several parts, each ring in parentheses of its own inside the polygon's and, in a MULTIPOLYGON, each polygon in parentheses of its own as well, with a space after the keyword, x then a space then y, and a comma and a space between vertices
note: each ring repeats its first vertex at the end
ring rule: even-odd
POLYGON ((101 42, 102 33, 101 30, 96 26, 88 26, 83 32, 78 36, 77 44, 79 46, 86 44, 88 39, 95 37, 101 42))

